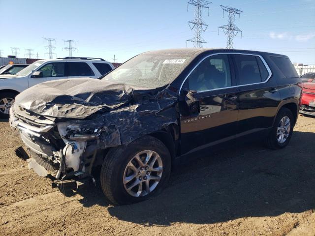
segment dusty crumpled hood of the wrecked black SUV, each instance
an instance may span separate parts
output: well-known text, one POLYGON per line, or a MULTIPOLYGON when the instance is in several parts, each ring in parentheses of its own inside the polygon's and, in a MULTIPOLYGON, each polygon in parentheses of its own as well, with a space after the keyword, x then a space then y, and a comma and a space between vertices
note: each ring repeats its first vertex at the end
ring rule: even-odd
POLYGON ((42 116, 86 118, 103 110, 111 111, 130 101, 133 88, 105 80, 75 78, 48 81, 16 96, 14 107, 23 107, 42 116))

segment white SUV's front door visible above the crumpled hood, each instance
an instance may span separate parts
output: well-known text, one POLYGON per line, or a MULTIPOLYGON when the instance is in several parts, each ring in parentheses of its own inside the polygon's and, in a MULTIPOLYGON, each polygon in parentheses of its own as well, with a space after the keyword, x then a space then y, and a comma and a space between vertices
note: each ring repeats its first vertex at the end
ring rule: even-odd
POLYGON ((33 78, 31 74, 29 77, 29 87, 50 80, 60 80, 67 78, 65 76, 65 62, 50 62, 44 64, 36 71, 43 72, 43 76, 33 78))

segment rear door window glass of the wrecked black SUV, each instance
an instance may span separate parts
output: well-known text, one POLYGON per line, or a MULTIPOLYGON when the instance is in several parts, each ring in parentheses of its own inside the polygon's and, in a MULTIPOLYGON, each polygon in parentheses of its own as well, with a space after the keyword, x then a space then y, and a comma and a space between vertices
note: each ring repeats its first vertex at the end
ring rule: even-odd
POLYGON ((261 77, 258 63, 252 55, 234 55, 240 85, 260 83, 261 77))

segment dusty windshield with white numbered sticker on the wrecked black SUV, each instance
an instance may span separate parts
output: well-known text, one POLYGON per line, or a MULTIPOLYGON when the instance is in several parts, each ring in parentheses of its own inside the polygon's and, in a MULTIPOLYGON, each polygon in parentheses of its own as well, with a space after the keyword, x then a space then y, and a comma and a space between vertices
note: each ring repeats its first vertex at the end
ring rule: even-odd
POLYGON ((175 80, 190 59, 190 55, 140 54, 108 73, 102 80, 141 88, 158 88, 175 80))

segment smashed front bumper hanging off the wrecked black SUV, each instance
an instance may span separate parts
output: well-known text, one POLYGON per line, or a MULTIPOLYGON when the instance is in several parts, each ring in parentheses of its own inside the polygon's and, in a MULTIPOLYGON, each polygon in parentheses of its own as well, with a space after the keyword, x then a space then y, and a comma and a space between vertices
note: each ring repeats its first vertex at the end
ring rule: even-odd
POLYGON ((92 177, 92 167, 99 149, 98 133, 66 138, 69 123, 52 123, 49 120, 39 123, 34 122, 34 117, 20 115, 14 113, 14 106, 11 107, 10 125, 19 130, 22 141, 37 164, 61 180, 92 177))

